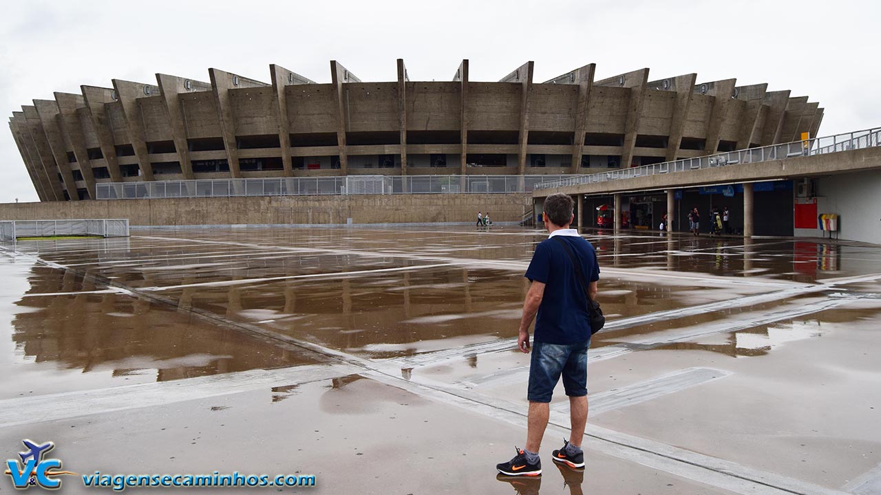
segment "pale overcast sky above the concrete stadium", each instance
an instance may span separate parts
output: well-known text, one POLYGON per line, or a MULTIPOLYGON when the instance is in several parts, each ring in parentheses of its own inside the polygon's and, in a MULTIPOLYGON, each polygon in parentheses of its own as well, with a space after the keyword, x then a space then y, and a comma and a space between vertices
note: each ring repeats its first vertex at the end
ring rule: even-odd
MULTIPOLYGON (((535 61, 544 81, 587 63, 596 78, 648 67, 650 80, 768 83, 825 107, 820 135, 881 126, 881 3, 800 0, 261 0, 4 2, 0 103, 8 119, 34 99, 156 84, 157 72, 208 81, 216 67, 269 82, 269 64, 330 82, 335 59, 365 81, 497 81, 535 61)), ((37 201, 8 127, 0 130, 0 203, 37 201)))

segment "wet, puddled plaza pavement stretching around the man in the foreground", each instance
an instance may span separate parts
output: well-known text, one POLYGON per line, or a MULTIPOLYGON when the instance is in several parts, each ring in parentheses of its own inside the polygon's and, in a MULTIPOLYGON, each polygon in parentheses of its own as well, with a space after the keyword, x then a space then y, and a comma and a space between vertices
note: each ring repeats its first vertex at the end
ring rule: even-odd
POLYGON ((507 483, 546 234, 132 233, 3 245, 6 458, 52 440, 77 472, 299 471, 328 493, 881 493, 881 247, 584 233, 609 318, 588 467, 550 460, 559 389, 543 476, 507 483))

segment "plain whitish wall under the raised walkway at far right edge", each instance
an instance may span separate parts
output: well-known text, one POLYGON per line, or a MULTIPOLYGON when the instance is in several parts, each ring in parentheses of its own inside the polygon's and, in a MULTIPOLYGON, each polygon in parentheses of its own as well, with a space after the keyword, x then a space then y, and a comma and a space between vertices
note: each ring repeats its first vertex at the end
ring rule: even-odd
MULTIPOLYGON (((818 215, 839 215, 839 239, 881 244, 881 171, 821 177, 816 194, 818 215)), ((829 235, 819 229, 796 229, 795 234, 829 235)))

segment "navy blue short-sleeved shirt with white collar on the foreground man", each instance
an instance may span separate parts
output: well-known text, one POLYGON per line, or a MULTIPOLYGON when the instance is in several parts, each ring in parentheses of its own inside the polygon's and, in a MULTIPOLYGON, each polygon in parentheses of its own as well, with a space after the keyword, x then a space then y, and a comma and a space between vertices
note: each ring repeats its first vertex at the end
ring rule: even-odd
MULTIPOLYGON (((560 229, 552 237, 562 239, 579 257, 586 284, 600 279, 596 251, 574 229, 560 229)), ((533 340, 545 344, 576 344, 590 338, 588 301, 575 276, 575 268, 559 240, 549 237, 536 247, 525 277, 544 285, 533 340)))

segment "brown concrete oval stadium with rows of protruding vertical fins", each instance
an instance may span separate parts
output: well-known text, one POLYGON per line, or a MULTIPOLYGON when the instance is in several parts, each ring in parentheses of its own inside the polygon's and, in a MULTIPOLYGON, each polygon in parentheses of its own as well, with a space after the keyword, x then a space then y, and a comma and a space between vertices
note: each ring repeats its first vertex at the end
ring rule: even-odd
POLYGON ((808 97, 648 69, 544 83, 525 63, 499 82, 366 83, 336 61, 329 84, 270 65, 264 83, 114 79, 33 100, 10 128, 41 201, 95 198, 95 183, 356 174, 580 174, 817 135, 808 97), (591 170, 589 170, 591 169, 591 170))

